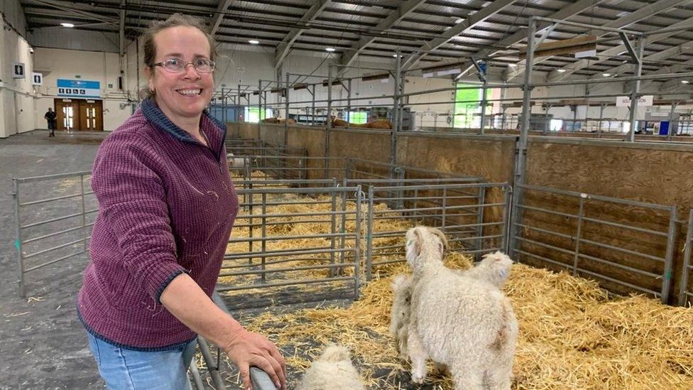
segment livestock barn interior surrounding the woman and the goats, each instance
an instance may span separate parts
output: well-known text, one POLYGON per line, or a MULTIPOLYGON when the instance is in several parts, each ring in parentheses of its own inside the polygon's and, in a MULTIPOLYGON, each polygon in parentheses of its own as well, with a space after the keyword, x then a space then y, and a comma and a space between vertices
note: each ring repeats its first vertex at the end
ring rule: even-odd
MULTIPOLYGON (((146 31, 173 13, 215 40, 203 105, 239 200, 212 300, 279 347, 288 389, 330 344, 366 389, 459 389, 432 361, 415 383, 388 329, 417 225, 462 275, 515 261, 512 389, 693 389, 680 0, 4 0, 0 389, 105 386, 75 310, 92 166, 146 105, 146 31)), ((243 388, 202 336, 187 381, 243 388)))

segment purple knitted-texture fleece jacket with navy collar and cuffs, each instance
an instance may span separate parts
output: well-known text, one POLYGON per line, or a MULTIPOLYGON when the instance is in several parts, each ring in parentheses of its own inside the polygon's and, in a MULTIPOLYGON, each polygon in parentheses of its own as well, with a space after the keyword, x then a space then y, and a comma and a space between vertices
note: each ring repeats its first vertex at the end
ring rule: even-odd
POLYGON ((200 129, 209 147, 147 99, 99 147, 92 171, 99 214, 77 304, 95 337, 143 351, 195 338, 160 295, 183 272, 212 295, 238 212, 226 127, 205 112, 200 129))

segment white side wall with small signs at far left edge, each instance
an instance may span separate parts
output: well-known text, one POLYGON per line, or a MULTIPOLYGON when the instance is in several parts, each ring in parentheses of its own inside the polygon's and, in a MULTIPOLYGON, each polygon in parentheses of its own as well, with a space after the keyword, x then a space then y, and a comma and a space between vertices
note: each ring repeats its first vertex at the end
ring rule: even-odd
MULTIPOLYGON (((4 25, 4 20, 0 23, 4 25)), ((0 31, 0 138, 34 129, 36 107, 31 87, 33 71, 29 44, 11 28, 0 31), (12 64, 24 63, 24 79, 12 78, 12 64)))

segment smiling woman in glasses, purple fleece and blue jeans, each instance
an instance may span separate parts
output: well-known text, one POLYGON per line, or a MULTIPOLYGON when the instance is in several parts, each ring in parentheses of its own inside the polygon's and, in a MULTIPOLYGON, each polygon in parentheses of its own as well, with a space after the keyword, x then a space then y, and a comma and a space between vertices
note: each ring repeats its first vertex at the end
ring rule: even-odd
POLYGON ((204 107, 214 90, 214 39, 175 14, 144 35, 150 95, 99 147, 99 200, 78 313, 109 389, 187 389, 202 335, 239 367, 285 388, 275 345, 209 298, 238 197, 226 169, 226 127, 204 107))

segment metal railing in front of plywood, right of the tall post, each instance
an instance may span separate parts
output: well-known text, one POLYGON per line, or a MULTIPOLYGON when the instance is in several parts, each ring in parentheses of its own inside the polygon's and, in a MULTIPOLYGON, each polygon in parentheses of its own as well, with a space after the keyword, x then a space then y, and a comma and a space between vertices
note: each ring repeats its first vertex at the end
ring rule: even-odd
POLYGON ((542 261, 576 275, 652 294, 667 303, 676 234, 675 206, 535 185, 520 185, 520 188, 528 195, 515 205, 520 215, 513 222, 511 250, 518 259, 523 256, 542 261), (543 198, 528 200, 531 194, 543 198), (556 197, 568 200, 559 203, 556 197), (587 207, 595 203, 599 205, 589 212, 587 207), (643 215, 648 220, 638 222, 636 219, 643 220, 643 215), (661 221, 661 229, 646 226, 656 220, 661 221), (640 242, 646 242, 647 249, 655 253, 647 253, 640 242), (606 255, 611 259, 604 258, 606 255), (604 269, 611 271, 610 275, 606 275, 604 269), (640 281, 636 280, 638 278, 640 281), (643 282, 643 278, 649 283, 643 282), (653 289, 653 283, 659 283, 660 288, 653 289))

